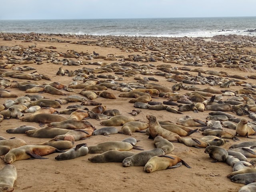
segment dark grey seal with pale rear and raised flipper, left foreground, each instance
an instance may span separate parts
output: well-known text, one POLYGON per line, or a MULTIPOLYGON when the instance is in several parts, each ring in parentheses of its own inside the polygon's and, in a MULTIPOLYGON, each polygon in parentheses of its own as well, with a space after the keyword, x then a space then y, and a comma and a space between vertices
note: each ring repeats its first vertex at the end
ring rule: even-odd
POLYGON ((58 156, 55 157, 56 160, 61 161, 61 160, 69 160, 69 159, 74 159, 82 156, 86 156, 88 154, 88 148, 87 144, 78 144, 76 147, 68 150, 65 153, 61 153, 58 156))

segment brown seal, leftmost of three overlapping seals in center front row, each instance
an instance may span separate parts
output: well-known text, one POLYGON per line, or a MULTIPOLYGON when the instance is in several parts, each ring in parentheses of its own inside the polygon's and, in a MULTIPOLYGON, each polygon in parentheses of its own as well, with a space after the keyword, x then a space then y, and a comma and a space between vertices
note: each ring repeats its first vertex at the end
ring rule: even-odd
POLYGON ((109 150, 99 155, 94 155, 88 158, 93 163, 107 163, 107 162, 123 162, 127 157, 134 155, 134 152, 109 150))

